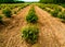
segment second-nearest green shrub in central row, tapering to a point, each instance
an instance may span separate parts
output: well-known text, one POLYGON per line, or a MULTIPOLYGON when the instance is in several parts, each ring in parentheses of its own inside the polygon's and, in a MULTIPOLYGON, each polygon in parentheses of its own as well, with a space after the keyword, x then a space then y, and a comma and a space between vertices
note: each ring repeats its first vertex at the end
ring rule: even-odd
POLYGON ((29 23, 36 23, 38 21, 38 16, 35 14, 35 9, 31 9, 26 16, 26 21, 29 23))

